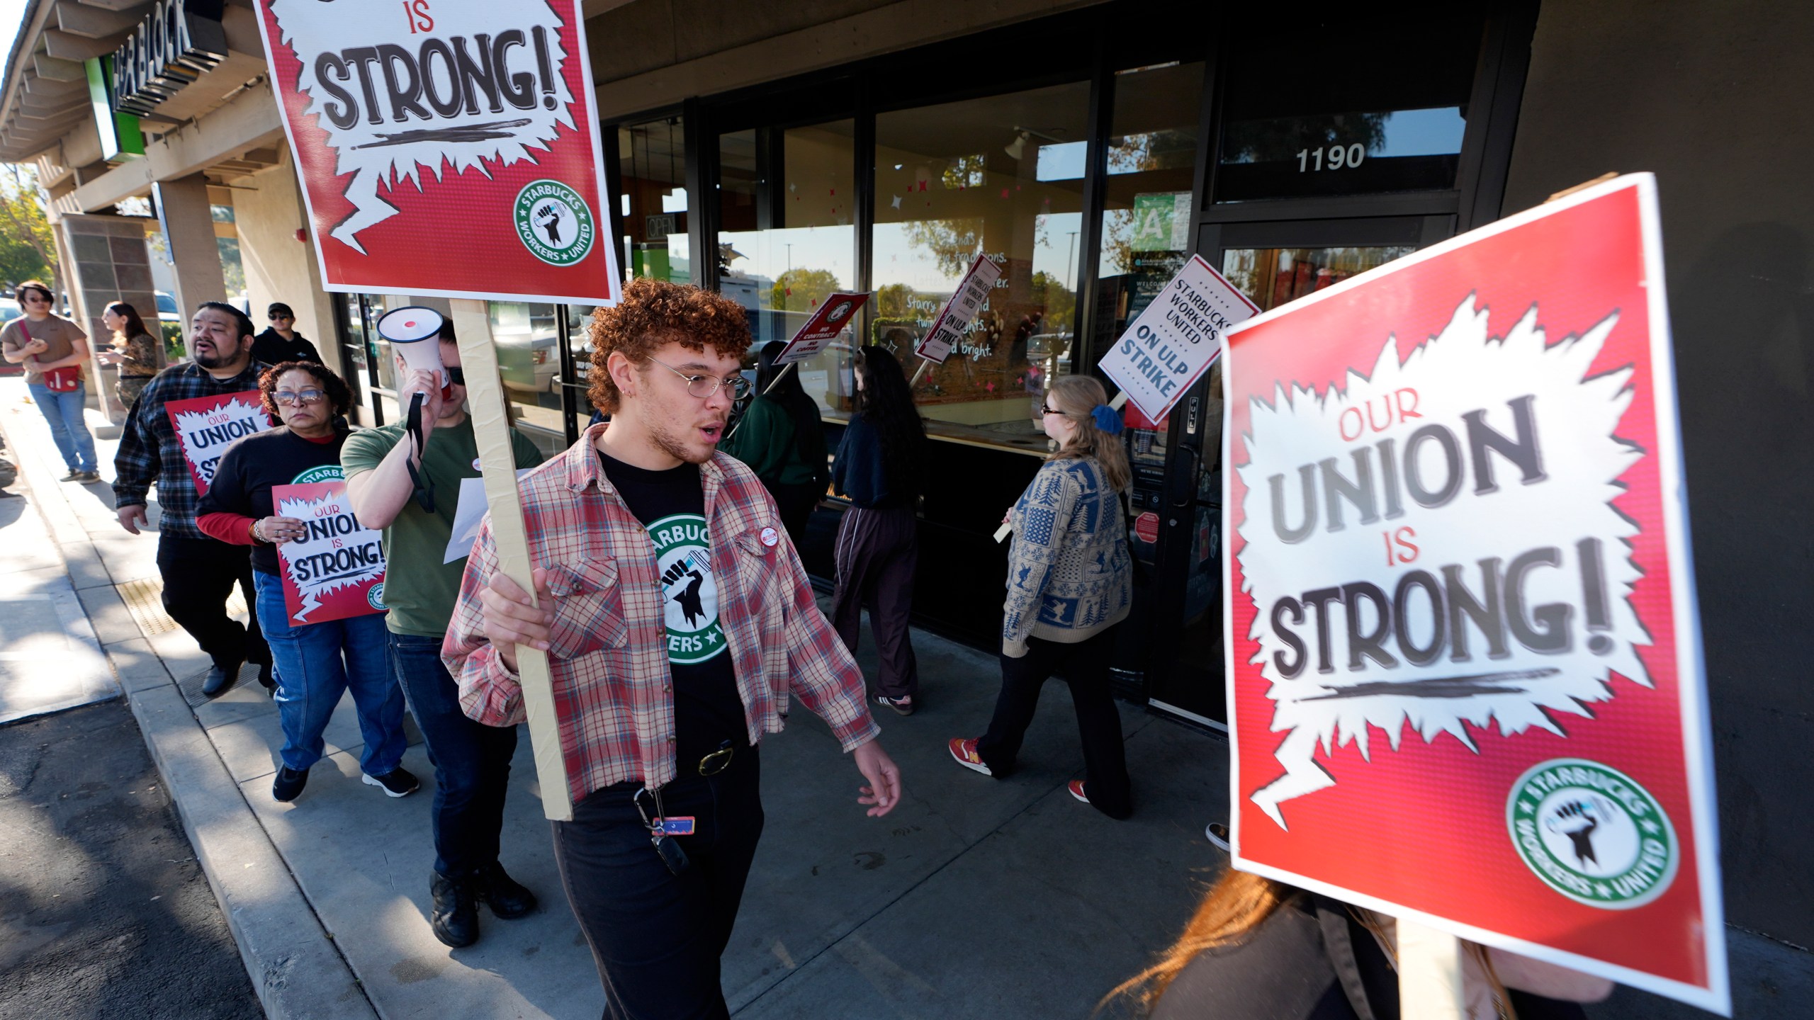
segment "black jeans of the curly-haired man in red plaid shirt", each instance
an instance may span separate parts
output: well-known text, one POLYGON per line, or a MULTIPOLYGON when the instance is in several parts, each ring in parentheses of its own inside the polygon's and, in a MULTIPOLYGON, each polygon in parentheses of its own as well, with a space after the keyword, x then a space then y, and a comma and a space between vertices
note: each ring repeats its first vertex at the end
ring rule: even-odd
MULTIPOLYGON (((693 817, 675 837, 689 868, 668 871, 633 800, 640 782, 595 790, 571 822, 550 822, 568 902, 604 982, 606 1020, 729 1016, 718 956, 731 940, 744 880, 762 837, 762 762, 738 746, 729 768, 700 777, 698 762, 662 788, 669 817, 693 817)), ((644 808, 655 815, 651 799, 644 808)))

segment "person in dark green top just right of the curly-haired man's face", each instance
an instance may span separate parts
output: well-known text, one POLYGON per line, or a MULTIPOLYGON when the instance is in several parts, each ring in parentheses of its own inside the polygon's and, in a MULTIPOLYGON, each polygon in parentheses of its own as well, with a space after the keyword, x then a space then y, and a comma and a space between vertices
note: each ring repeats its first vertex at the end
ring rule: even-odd
POLYGON ((805 537, 807 517, 825 495, 831 472, 825 470, 825 430, 818 405, 800 387, 800 372, 776 367, 775 356, 787 345, 771 339, 762 345, 756 368, 756 394, 731 436, 718 445, 749 465, 782 512, 782 526, 795 548, 805 537))

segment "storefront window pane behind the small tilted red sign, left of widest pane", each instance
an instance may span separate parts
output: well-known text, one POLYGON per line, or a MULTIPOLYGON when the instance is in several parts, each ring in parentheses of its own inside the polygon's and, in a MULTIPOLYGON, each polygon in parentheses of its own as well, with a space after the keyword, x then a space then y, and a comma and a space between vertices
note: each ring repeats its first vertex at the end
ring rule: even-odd
MULTIPOLYGON (((718 136, 718 292, 756 347, 787 339, 834 290, 856 287, 856 122, 718 136)), ((849 343, 800 365, 807 394, 844 408, 849 343)))

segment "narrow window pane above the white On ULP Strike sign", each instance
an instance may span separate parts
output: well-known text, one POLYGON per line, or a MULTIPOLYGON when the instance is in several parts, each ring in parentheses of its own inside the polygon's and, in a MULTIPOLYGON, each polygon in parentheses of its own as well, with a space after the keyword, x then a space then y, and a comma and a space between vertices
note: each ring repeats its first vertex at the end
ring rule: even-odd
POLYGON ((1190 260, 1203 64, 1116 74, 1090 367, 1190 260))

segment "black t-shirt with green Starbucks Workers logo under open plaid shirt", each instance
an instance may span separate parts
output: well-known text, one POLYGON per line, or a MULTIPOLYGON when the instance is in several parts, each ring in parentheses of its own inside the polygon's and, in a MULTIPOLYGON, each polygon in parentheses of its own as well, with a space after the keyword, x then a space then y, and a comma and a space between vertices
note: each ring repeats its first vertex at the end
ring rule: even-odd
POLYGON ((668 615, 668 670, 675 682, 675 757, 680 775, 697 775, 698 759, 731 740, 749 744, 744 699, 718 624, 718 579, 706 535, 706 486, 698 465, 660 472, 599 454, 604 477, 655 543, 668 615))

